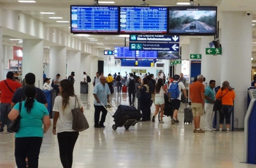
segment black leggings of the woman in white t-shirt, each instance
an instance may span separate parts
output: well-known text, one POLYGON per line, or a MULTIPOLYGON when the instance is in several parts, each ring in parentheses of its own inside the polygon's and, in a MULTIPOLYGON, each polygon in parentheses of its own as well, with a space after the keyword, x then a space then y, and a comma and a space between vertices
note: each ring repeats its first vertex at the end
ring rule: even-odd
POLYGON ((76 139, 79 133, 74 132, 60 132, 57 134, 59 150, 60 150, 60 161, 63 168, 71 168, 73 163, 73 150, 75 147, 76 139))

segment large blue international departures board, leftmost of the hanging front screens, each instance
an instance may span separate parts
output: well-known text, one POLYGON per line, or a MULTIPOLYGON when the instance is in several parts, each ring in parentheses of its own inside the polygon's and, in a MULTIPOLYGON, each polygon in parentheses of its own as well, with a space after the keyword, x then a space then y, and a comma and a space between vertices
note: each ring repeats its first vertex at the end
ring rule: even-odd
POLYGON ((119 33, 118 6, 70 6, 71 33, 119 33))

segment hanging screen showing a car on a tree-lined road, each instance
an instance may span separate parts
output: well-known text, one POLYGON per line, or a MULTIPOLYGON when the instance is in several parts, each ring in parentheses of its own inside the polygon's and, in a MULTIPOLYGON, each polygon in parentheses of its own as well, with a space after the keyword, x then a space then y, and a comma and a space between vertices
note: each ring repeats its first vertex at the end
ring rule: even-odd
POLYGON ((169 33, 179 35, 214 35, 216 6, 169 7, 169 33))

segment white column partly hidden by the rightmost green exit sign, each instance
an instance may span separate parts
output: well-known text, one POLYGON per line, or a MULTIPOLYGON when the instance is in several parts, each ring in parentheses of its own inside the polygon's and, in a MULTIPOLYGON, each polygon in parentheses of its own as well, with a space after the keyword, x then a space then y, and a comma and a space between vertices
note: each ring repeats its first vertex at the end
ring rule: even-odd
POLYGON ((216 81, 216 86, 220 85, 220 65, 221 55, 206 55, 205 48, 209 48, 209 43, 213 41, 212 36, 202 37, 202 62, 201 74, 205 77, 205 82, 209 85, 210 80, 216 81))

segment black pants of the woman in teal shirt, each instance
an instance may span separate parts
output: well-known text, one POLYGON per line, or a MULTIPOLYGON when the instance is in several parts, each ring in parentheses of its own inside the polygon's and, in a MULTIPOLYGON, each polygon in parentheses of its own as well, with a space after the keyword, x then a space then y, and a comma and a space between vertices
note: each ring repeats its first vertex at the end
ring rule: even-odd
POLYGON ((28 167, 38 167, 38 156, 42 141, 42 137, 15 138, 14 155, 18 168, 26 167, 26 157, 28 157, 28 167))

